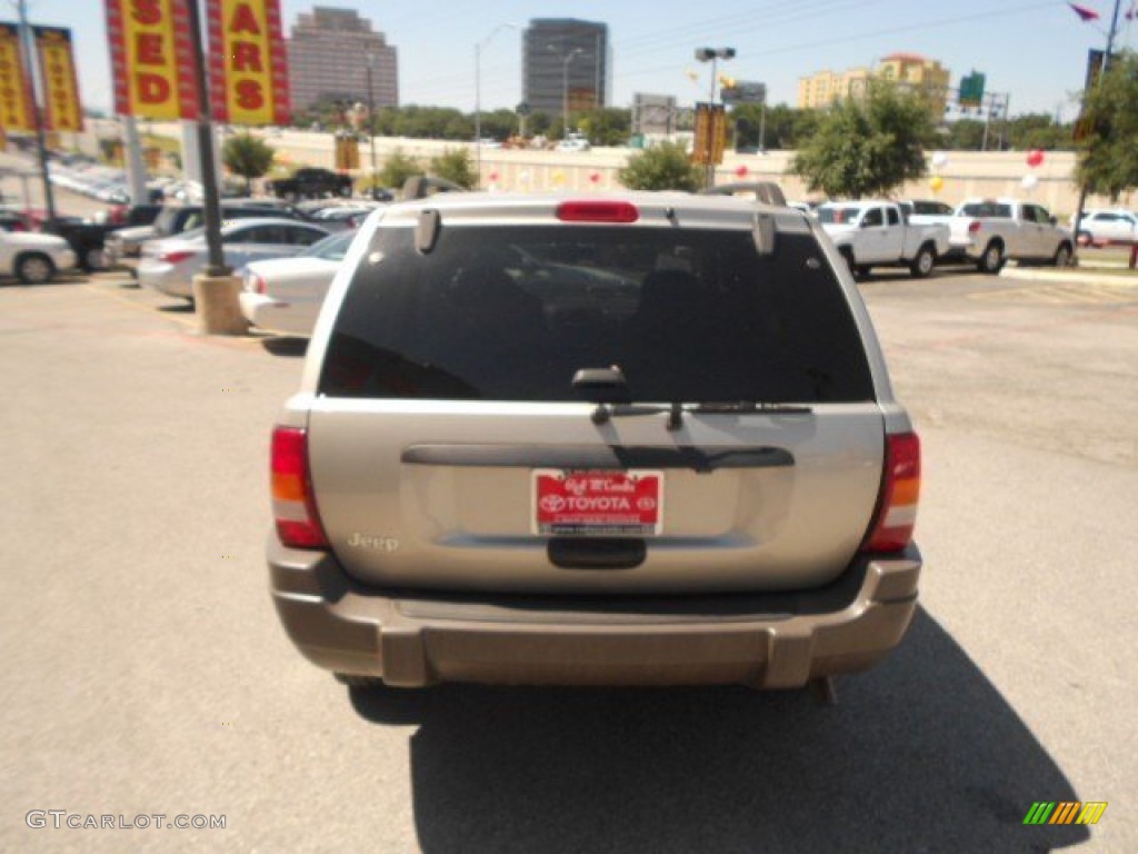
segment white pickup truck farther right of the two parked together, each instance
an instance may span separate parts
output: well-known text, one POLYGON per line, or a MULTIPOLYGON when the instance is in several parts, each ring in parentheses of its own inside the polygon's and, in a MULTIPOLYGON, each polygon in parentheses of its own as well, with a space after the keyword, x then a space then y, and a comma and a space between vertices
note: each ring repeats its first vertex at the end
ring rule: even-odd
POLYGON ((951 253, 975 263, 981 272, 998 273, 1008 258, 1071 263, 1074 240, 1047 208, 1011 198, 967 199, 956 208, 951 253))

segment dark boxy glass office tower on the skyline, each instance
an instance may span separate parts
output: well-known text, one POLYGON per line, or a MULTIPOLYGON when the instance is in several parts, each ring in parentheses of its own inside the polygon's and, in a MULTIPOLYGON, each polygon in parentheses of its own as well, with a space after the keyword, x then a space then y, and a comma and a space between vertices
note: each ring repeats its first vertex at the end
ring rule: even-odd
POLYGON ((574 18, 530 20, 521 40, 521 99, 536 113, 558 116, 567 95, 570 113, 608 106, 612 100, 609 51, 608 24, 574 18))

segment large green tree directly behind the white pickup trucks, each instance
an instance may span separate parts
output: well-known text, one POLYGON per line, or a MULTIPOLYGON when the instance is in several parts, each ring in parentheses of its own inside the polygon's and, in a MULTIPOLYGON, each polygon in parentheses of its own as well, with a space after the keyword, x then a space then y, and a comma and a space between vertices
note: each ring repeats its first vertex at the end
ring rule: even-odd
POLYGON ((924 176, 924 148, 933 138, 924 98, 876 82, 865 100, 839 101, 823 114, 791 172, 832 198, 885 195, 924 176))

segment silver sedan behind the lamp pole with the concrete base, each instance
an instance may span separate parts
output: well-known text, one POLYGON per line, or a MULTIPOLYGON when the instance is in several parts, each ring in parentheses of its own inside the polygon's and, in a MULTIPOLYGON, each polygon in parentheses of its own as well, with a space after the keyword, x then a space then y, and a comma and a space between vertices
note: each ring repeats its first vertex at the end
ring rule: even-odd
MULTIPOLYGON (((221 230, 225 264, 234 270, 254 261, 283 258, 328 237, 319 225, 280 219, 249 219, 221 230)), ((207 262, 205 229, 151 240, 142 246, 139 285, 170 296, 193 298, 193 277, 207 262)))

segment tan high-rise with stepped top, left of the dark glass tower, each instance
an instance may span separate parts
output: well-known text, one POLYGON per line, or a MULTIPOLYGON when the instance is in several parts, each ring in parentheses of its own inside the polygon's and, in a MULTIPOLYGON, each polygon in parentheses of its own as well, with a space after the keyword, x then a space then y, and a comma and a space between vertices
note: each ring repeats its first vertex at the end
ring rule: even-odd
POLYGON ((376 108, 399 105, 396 50, 355 9, 315 7, 302 14, 288 40, 294 109, 338 99, 368 102, 368 65, 376 108))

